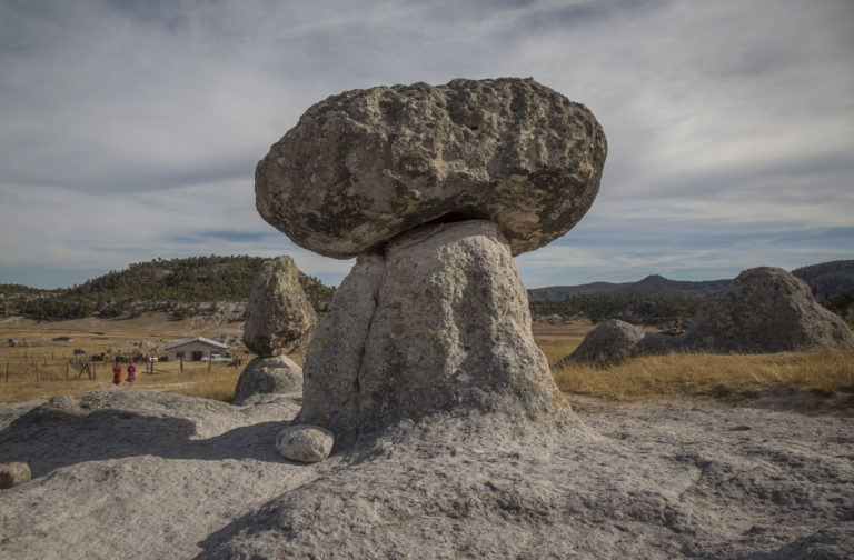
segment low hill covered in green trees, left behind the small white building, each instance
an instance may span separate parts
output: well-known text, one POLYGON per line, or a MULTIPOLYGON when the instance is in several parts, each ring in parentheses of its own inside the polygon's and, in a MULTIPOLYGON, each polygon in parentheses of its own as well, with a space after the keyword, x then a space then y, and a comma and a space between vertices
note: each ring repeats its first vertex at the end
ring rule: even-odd
MULTIPOLYGON (((0 292, 10 311, 46 319, 173 311, 182 309, 181 303, 247 300, 252 281, 267 260, 245 256, 156 259, 110 271, 72 288, 38 290, 0 284, 0 292)), ((335 293, 335 288, 301 272, 299 281, 318 310, 324 309, 335 293)))

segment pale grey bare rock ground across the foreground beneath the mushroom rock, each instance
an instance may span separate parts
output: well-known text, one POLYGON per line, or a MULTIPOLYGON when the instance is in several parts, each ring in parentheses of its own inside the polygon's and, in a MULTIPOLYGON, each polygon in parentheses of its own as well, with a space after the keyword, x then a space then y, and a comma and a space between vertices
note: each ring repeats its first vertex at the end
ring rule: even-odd
POLYGON ((275 451, 292 397, 37 404, 0 407, 0 450, 33 474, 0 491, 3 559, 854 554, 850 418, 674 401, 444 416, 306 466, 275 451))

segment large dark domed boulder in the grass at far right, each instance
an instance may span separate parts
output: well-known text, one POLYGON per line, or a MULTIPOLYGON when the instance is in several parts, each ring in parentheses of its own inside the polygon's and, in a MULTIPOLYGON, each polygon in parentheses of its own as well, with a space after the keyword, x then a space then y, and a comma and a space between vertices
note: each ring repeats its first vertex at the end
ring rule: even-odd
POLYGON ((803 280, 783 269, 743 271, 732 286, 708 296, 684 336, 688 348, 778 352, 854 346, 837 316, 820 306, 803 280))

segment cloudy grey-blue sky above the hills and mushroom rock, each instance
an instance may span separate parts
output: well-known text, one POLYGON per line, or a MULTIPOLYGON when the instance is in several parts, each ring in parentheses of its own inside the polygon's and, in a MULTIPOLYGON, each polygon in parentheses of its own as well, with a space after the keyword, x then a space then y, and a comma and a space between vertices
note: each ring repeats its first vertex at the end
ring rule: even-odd
POLYGON ((533 77, 608 138, 529 288, 854 259, 854 2, 0 0, 0 283, 291 254, 256 162, 344 90, 533 77))

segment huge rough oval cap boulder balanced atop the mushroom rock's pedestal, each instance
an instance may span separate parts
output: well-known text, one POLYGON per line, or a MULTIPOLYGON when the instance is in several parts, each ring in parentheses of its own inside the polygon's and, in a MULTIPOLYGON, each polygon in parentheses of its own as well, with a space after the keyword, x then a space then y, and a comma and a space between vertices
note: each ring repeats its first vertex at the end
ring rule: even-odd
POLYGON ((309 108, 272 146, 256 204, 328 257, 463 219, 491 220, 518 254, 584 216, 606 152, 593 113, 533 79, 352 90, 309 108))

